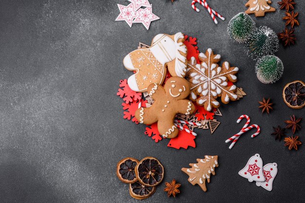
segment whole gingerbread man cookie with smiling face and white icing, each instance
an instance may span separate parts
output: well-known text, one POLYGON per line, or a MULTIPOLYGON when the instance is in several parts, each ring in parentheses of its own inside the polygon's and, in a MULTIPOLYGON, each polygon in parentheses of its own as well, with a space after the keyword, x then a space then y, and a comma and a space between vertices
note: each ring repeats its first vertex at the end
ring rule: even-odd
POLYGON ((159 133, 165 138, 177 136, 178 129, 174 125, 176 114, 190 115, 195 111, 194 104, 185 100, 190 94, 190 83, 181 77, 171 77, 164 88, 153 83, 147 91, 154 102, 151 107, 136 110, 135 118, 144 124, 158 122, 159 133))

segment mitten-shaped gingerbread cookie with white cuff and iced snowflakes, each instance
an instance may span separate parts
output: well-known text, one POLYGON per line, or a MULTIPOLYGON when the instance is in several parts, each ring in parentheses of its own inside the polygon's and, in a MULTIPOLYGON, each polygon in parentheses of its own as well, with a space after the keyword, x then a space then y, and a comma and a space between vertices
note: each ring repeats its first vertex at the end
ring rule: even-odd
POLYGON ((187 67, 187 48, 182 33, 157 34, 150 48, 138 49, 125 56, 123 64, 128 70, 136 71, 128 78, 133 91, 145 92, 148 85, 161 85, 166 68, 172 76, 184 77, 187 67))

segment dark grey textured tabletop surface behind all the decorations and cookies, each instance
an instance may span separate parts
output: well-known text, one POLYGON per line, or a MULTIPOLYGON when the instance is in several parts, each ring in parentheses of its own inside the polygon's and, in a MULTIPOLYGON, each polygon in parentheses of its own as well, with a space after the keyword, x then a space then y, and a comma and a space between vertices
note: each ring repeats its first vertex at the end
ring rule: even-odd
MULTIPOLYGON (((273 84, 260 83, 243 46, 229 40, 229 19, 245 11, 247 0, 210 0, 226 17, 215 25, 207 11, 196 13, 191 0, 150 0, 153 13, 161 19, 147 31, 143 25, 129 28, 115 22, 117 3, 127 0, 1 0, 0 1, 0 201, 1 202, 136 202, 128 185, 116 175, 123 157, 157 157, 165 167, 165 181, 181 183, 181 194, 168 198, 164 182, 143 202, 303 202, 304 146, 288 151, 284 141, 270 135, 272 126, 285 126, 290 115, 304 116, 282 99, 284 85, 305 80, 304 10, 296 27, 297 43, 276 53, 285 66, 283 78, 273 84), (122 59, 138 42, 150 44, 159 33, 183 32, 198 38, 200 51, 212 48, 224 60, 238 66, 237 85, 248 96, 222 105, 221 125, 213 135, 196 131, 197 147, 175 150, 168 140, 159 143, 144 135, 145 126, 123 119, 122 100, 116 96, 119 80, 132 73, 122 59), (274 111, 262 114, 258 102, 270 97, 274 111), (239 132, 237 118, 247 114, 261 126, 251 139, 243 135, 232 150, 225 140, 239 132), (238 175, 255 153, 264 164, 276 162, 278 174, 271 192, 238 175), (207 184, 208 192, 191 186, 181 171, 196 158, 218 155, 219 168, 207 184)), ((285 15, 277 10, 255 18, 280 32, 285 15)), ((302 121, 304 127, 305 121, 302 121)), ((296 133, 305 143, 304 129, 296 133)), ((292 135, 291 130, 287 135, 292 135)))

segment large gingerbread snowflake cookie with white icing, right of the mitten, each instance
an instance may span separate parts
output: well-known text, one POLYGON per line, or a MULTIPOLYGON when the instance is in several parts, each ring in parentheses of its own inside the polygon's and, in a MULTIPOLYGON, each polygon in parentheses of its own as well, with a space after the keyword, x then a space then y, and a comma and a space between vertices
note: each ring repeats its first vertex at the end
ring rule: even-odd
POLYGON ((228 80, 236 82, 237 67, 230 67, 224 62, 222 67, 217 63, 221 56, 215 55, 211 49, 199 54, 201 64, 197 64, 194 57, 188 62, 187 78, 191 83, 190 99, 207 111, 218 108, 220 103, 216 98, 221 97, 223 103, 237 100, 236 86, 228 86, 228 80))

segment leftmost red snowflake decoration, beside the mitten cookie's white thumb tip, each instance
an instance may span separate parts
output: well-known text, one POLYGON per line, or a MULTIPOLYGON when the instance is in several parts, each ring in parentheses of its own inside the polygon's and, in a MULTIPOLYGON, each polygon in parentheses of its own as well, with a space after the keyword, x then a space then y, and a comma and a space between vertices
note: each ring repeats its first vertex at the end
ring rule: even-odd
POLYGON ((128 104, 132 101, 138 101, 142 98, 142 93, 134 92, 127 84, 127 79, 120 81, 120 87, 116 95, 123 98, 123 100, 128 104))

